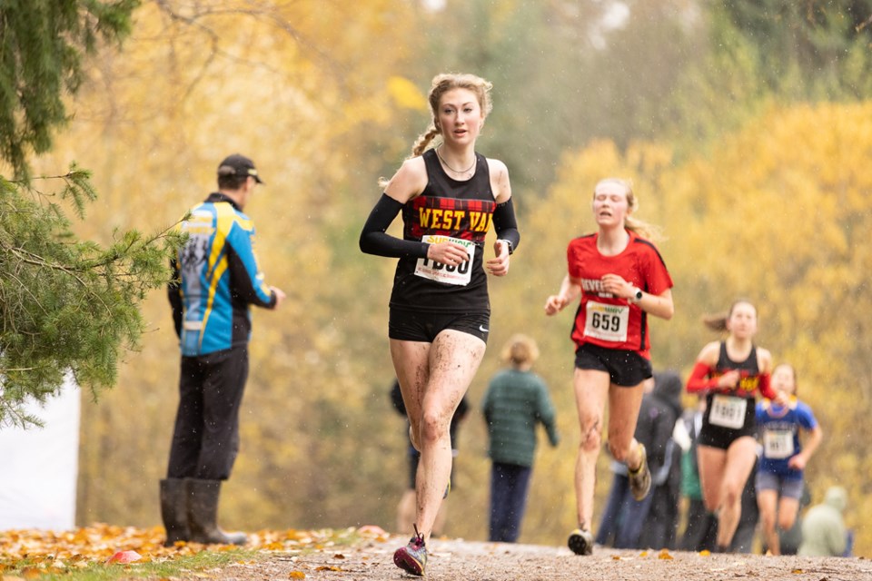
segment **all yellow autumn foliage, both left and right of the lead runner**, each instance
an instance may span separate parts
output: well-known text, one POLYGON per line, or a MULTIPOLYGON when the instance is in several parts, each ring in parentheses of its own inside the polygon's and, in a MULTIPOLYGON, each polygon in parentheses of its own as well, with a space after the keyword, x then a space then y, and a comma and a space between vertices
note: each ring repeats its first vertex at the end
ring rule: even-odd
MULTIPOLYGON (((246 212, 267 280, 288 300, 278 312, 254 312, 242 450, 222 505, 228 527, 392 529, 405 487, 404 424, 388 399, 393 261, 362 255, 357 236, 378 176, 429 122, 423 91, 435 72, 406 72, 421 41, 411 3, 367 5, 145 3, 124 53, 94 64, 68 131, 35 164, 48 171, 75 160, 94 170, 100 198, 81 228, 94 238, 177 220, 214 187, 227 153, 252 156, 263 173, 267 184, 246 212)), ((500 98, 510 100, 511 89, 501 87, 500 98)), ((513 127, 503 141, 528 143, 537 131, 513 127)), ((482 153, 495 147, 490 139, 482 136, 482 153)), ((661 227, 659 250, 676 283, 675 318, 651 320, 655 367, 686 375, 715 339, 700 317, 740 296, 754 300, 759 344, 798 368, 800 396, 824 428, 808 468, 813 497, 845 485, 857 552, 872 553, 862 528, 872 516, 870 159, 872 103, 772 106, 710 154, 676 162, 667 143, 601 140, 564 152, 553 183, 516 190, 522 240, 509 276, 490 281, 490 349, 470 389, 446 532, 486 537, 479 406, 503 341, 519 330, 540 344, 536 370, 563 435, 556 450, 540 443, 521 540, 562 545, 575 526, 573 310, 547 318, 542 308, 565 273, 567 243, 594 229, 593 185, 614 175, 632 180, 639 218, 661 227)), ((163 293, 145 313, 150 332, 127 355, 119 385, 84 406, 82 524, 159 522, 178 352, 163 293)))

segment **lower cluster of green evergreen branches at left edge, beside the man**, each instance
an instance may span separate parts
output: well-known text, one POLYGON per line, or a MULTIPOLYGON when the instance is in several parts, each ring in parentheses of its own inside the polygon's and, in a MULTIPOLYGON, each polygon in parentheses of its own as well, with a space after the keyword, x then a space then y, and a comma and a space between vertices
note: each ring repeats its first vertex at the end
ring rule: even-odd
POLYGON ((39 423, 23 404, 53 395, 68 373, 94 398, 111 387, 144 332, 139 305, 171 276, 176 231, 116 231, 105 247, 76 238, 64 206, 84 218, 89 177, 72 165, 33 182, 0 178, 0 427, 39 423))

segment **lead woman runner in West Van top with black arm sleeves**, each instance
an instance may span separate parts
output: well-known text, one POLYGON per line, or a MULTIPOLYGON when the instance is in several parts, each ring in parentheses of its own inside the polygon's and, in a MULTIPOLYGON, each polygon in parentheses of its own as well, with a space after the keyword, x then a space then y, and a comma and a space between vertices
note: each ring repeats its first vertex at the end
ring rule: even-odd
POLYGON ((424 575, 426 544, 450 483, 451 417, 479 368, 490 330, 484 269, 504 276, 520 239, 506 165, 475 153, 490 113, 489 92, 490 83, 471 74, 433 79, 433 126, 384 184, 361 233, 362 251, 400 259, 391 293, 391 359, 421 460, 416 535, 393 561, 418 576, 424 575), (441 143, 424 153, 436 135, 441 143), (402 240, 386 233, 400 212, 402 240), (496 256, 485 260, 490 222, 498 236, 496 256))

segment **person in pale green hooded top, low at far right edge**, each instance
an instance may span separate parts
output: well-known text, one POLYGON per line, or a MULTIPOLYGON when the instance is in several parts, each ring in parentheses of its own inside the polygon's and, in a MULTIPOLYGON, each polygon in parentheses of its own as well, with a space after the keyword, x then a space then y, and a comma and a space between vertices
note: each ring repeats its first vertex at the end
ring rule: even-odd
POLYGON ((845 556, 848 534, 842 513, 847 507, 843 487, 829 487, 824 501, 811 507, 802 519, 799 556, 845 556))

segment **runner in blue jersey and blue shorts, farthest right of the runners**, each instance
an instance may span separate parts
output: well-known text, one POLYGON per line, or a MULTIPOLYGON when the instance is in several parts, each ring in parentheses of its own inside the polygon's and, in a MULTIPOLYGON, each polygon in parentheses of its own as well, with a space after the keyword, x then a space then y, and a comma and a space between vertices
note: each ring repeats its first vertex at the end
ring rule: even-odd
POLYGON ((789 530, 797 519, 804 486, 803 470, 823 438, 814 413, 797 399, 797 372, 787 363, 772 371, 772 388, 787 402, 762 399, 757 404, 757 426, 763 455, 757 469, 757 504, 768 552, 780 555, 778 528, 789 530), (800 440, 805 432, 805 445, 800 440), (776 519, 778 516, 778 519, 776 519))

